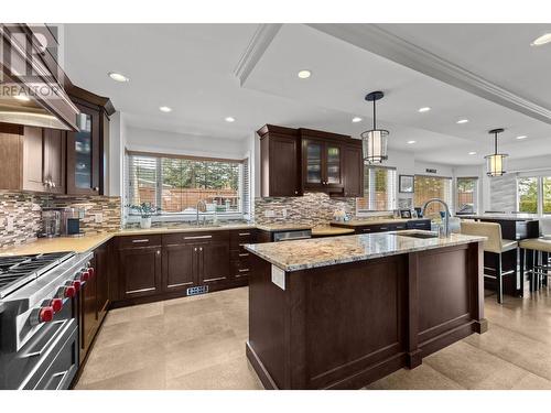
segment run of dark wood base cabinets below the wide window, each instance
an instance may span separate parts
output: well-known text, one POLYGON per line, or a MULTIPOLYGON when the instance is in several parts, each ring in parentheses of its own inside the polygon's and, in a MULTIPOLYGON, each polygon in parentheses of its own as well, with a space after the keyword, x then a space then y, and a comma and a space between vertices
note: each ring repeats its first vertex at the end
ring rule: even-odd
POLYGON ((190 287, 247 285, 249 253, 242 246, 255 240, 255 229, 117 237, 111 284, 118 287, 110 300, 123 306, 185 296, 190 287))

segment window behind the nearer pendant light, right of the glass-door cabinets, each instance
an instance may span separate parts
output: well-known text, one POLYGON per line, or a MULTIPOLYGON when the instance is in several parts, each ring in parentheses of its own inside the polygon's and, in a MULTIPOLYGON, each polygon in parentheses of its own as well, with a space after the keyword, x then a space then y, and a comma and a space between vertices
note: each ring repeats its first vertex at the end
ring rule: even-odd
POLYGON ((356 198, 356 214, 396 208, 396 169, 364 167, 364 197, 356 198))

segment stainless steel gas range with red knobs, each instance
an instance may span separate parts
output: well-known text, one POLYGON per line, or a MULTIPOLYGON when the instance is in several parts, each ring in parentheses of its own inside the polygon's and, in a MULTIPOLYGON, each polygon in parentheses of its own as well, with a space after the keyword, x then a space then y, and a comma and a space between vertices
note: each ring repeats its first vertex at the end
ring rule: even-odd
POLYGON ((0 389, 68 389, 91 253, 0 258, 0 389))

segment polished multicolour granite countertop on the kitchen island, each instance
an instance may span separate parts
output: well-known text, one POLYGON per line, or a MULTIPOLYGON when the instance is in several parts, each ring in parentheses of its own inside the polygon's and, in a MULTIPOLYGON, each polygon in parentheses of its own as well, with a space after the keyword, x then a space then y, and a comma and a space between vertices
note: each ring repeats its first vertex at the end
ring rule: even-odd
POLYGON ((256 243, 245 248, 283 271, 299 271, 486 240, 485 237, 461 233, 452 233, 450 238, 429 239, 401 236, 406 232, 419 231, 256 243))

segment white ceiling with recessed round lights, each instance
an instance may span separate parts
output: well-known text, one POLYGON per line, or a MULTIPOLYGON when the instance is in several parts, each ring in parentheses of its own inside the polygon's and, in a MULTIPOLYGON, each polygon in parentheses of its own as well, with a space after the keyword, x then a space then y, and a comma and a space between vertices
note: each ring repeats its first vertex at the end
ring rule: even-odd
MULTIPOLYGON (((484 26, 493 33, 487 28, 493 25, 484 26)), ((517 25, 508 26, 511 30, 517 25)), ((414 31, 411 25, 386 29, 402 30, 400 35, 407 35, 412 42, 424 42, 423 36, 436 39, 433 43, 443 51, 453 48, 457 56, 465 55, 465 62, 460 63, 477 62, 476 53, 460 52, 457 43, 463 43, 450 34, 447 25, 440 26, 440 34, 434 32, 437 28, 418 30, 422 34, 418 37, 403 32, 414 31)), ((284 24, 241 87, 234 70, 256 30, 256 24, 67 24, 65 69, 75 84, 109 96, 115 107, 125 112, 127 122, 134 127, 242 139, 264 123, 276 123, 358 137, 370 127, 371 107, 364 96, 381 89, 387 96, 378 106, 378 118, 380 126, 391 132, 390 146, 413 151, 417 159, 449 164, 482 163, 483 155, 491 148, 486 131, 495 127, 507 129, 503 148, 514 157, 551 154, 550 124, 306 25, 284 24), (311 78, 296 77, 303 68, 312 70, 311 78), (112 70, 123 73, 130 81, 115 83, 107 76, 112 70), (170 106, 173 111, 162 113, 159 106, 170 106), (419 113, 417 110, 422 106, 430 106, 432 110, 419 113), (237 121, 225 122, 227 116, 237 121), (363 117, 364 121, 352 123, 354 116, 363 117), (471 121, 456 124, 460 118, 471 121), (529 139, 517 141, 518 134, 527 134, 529 139), (408 140, 418 143, 408 145, 408 140), (469 151, 478 155, 471 156, 469 151)), ((541 30, 537 26, 534 36, 541 30)), ((456 32, 460 39, 464 35, 460 30, 456 32)), ((496 37, 501 39, 497 35, 491 39, 496 37)), ((526 43, 528 51, 532 50, 528 46, 531 40, 526 43)), ((469 50, 469 45, 473 40, 466 40, 464 48, 469 50)), ((495 48, 487 41, 477 44, 476 48, 479 47, 495 48)), ((551 45, 545 47, 549 57, 551 45)), ((454 56, 446 55, 446 58, 454 56)), ((498 61, 499 57, 491 57, 491 65, 498 61)), ((545 62, 549 63, 541 57, 528 65, 526 61, 510 59, 509 66, 519 67, 503 69, 496 78, 488 77, 487 72, 480 75, 501 81, 512 79, 515 73, 522 72, 521 67, 530 66, 531 79, 543 78, 545 70, 536 70, 533 66, 545 62)), ((527 80, 526 87, 532 81, 536 80, 527 80)), ((549 88, 549 83, 545 87, 549 88)), ((551 95, 545 87, 534 88, 533 93, 539 90, 540 97, 527 94, 523 97, 551 108, 551 95)))

